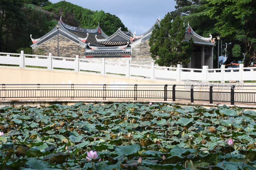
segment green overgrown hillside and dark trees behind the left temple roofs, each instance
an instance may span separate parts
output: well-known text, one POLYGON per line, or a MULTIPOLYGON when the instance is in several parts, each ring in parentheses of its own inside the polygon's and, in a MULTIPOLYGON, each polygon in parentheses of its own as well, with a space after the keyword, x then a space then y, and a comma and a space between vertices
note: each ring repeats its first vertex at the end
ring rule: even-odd
POLYGON ((127 31, 115 15, 91 11, 66 1, 52 4, 48 0, 1 0, 0 11, 0 52, 24 50, 26 54, 32 54, 30 34, 39 38, 48 33, 60 16, 66 24, 83 28, 96 28, 100 23, 107 35, 115 33, 120 27, 127 31))

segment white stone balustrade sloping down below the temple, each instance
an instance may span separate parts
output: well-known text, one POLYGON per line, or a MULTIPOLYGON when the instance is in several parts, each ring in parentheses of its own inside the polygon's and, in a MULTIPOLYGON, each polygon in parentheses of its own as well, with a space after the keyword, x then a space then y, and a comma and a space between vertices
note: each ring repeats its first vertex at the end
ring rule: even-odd
POLYGON ((21 51, 20 54, 0 53, 1 67, 18 67, 24 69, 45 69, 45 70, 62 70, 87 72, 92 74, 125 76, 148 78, 151 80, 169 80, 175 82, 191 81, 249 81, 256 80, 256 67, 244 68, 244 64, 240 64, 239 68, 225 69, 225 65, 221 65, 220 69, 187 69, 178 67, 160 67, 151 65, 114 63, 106 62, 104 58, 100 60, 79 59, 71 57, 56 57, 49 55, 26 55, 21 51))

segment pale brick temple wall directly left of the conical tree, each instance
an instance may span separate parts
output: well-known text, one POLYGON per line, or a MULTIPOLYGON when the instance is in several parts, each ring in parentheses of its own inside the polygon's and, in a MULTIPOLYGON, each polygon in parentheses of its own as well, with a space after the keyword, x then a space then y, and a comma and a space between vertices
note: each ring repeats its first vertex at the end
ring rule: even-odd
POLYGON ((150 47, 148 45, 148 41, 149 40, 146 40, 132 48, 132 64, 151 65, 151 63, 154 62, 153 58, 151 57, 151 53, 149 52, 150 47))

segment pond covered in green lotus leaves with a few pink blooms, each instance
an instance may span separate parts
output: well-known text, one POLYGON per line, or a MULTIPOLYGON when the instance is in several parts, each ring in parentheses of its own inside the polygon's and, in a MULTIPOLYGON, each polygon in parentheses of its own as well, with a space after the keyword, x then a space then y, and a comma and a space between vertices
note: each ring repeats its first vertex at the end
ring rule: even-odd
POLYGON ((172 103, 0 109, 1 169, 255 169, 255 111, 172 103))

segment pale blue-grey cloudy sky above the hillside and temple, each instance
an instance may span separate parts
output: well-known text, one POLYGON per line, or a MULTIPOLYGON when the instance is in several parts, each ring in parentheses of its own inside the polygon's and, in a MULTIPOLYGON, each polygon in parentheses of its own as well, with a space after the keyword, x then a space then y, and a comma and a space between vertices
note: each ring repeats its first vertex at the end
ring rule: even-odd
MULTIPOLYGON (((143 34, 154 25, 157 18, 164 18, 165 14, 174 11, 174 0, 66 0, 72 4, 88 8, 93 11, 104 11, 119 17, 124 26, 137 35, 143 34)), ((60 0, 50 0, 52 3, 60 0)), ((103 30, 104 31, 104 30, 103 30)))

